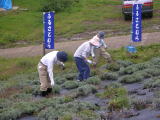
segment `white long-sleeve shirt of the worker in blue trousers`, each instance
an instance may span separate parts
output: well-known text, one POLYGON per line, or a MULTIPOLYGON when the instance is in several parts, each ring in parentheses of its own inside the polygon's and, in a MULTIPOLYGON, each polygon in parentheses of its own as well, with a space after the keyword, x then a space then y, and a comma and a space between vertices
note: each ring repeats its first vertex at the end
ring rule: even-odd
POLYGON ((91 55, 91 44, 89 41, 81 44, 76 52, 74 53, 74 57, 87 58, 91 55))

